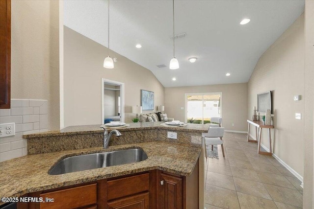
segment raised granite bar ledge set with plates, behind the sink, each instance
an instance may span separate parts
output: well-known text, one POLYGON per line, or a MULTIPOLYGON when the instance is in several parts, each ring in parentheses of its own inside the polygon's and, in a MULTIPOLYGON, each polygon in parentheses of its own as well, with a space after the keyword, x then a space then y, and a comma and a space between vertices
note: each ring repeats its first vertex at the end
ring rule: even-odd
MULTIPOLYGON (((107 128, 107 129, 118 129, 119 131, 131 131, 131 130, 149 130, 149 129, 164 129, 164 130, 174 130, 174 131, 185 131, 185 132, 197 132, 203 133, 207 132, 209 125, 202 124, 190 124, 184 127, 164 127, 160 124, 164 122, 138 122, 129 123, 130 126, 124 128, 107 128)), ((101 125, 79 125, 79 126, 69 126, 59 131, 48 131, 44 133, 28 134, 24 135, 24 139, 29 138, 40 138, 40 137, 52 137, 52 136, 66 136, 66 135, 76 135, 76 134, 92 134, 92 133, 103 133, 104 129, 100 127, 101 125)))

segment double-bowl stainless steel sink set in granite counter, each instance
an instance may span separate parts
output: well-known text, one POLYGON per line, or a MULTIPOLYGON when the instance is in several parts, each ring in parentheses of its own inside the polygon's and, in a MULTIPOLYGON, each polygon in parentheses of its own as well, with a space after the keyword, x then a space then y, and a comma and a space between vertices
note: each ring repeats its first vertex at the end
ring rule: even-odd
POLYGON ((48 172, 50 175, 90 170, 127 163, 136 163, 147 159, 142 149, 126 149, 88 155, 78 155, 61 160, 48 172))

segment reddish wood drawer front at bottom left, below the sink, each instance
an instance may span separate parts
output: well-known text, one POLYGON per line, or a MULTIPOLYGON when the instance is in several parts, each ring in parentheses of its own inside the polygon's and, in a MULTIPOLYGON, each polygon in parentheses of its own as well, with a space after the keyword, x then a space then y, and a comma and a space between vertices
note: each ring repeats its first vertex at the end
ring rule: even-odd
POLYGON ((40 203, 40 209, 73 209, 97 203, 97 184, 79 186, 41 194, 40 197, 53 198, 52 203, 40 203))

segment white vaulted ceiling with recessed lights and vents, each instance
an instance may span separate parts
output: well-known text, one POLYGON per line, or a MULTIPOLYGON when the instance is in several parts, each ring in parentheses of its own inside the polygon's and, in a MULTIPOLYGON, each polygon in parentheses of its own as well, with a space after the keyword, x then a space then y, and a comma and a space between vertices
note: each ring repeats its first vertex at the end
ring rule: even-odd
MULTIPOLYGON (((110 48, 151 70, 164 87, 247 82, 262 53, 302 14, 304 3, 175 0, 175 33, 187 37, 176 39, 180 69, 169 70, 172 1, 110 0, 110 48), (240 25, 244 18, 251 22, 240 25), (192 64, 189 57, 198 60, 192 64), (167 67, 157 68, 160 64, 167 67)), ((107 46, 107 1, 65 0, 64 25, 107 46)))

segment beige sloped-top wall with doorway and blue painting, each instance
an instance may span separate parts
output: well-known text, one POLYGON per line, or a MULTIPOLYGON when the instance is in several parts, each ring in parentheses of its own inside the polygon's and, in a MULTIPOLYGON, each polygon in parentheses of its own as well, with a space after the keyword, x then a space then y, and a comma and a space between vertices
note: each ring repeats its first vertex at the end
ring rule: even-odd
POLYGON ((102 78, 125 83, 126 122, 135 115, 131 107, 140 105, 141 89, 155 92, 155 109, 163 105, 164 87, 150 70, 113 51, 110 56, 118 62, 114 69, 105 69, 105 56, 105 46, 64 26, 65 127, 102 122, 102 78))

